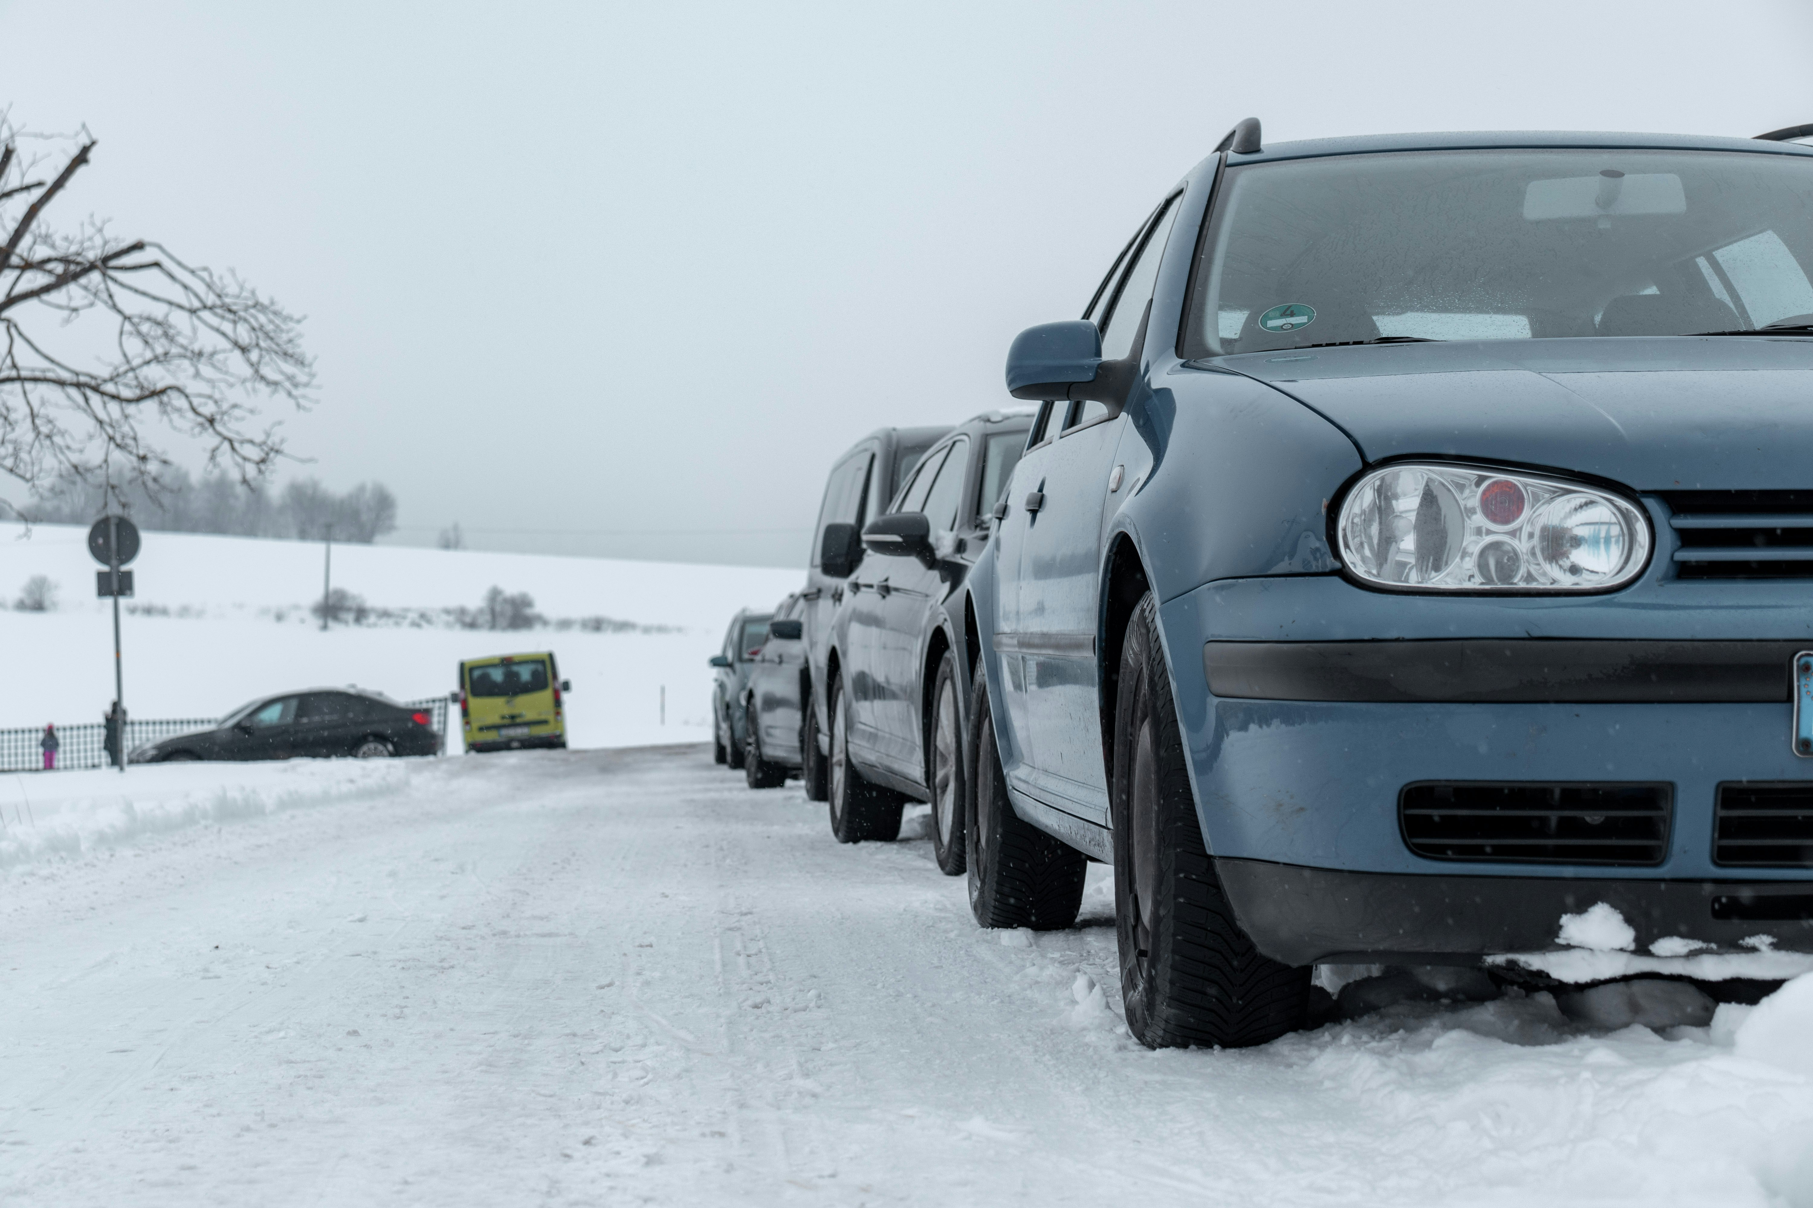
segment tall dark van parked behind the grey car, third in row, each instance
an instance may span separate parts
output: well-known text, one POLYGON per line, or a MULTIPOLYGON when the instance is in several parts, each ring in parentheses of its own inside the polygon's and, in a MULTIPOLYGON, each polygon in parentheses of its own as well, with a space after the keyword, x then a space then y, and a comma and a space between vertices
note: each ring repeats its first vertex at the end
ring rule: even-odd
POLYGON ((830 469, 825 500, 812 527, 812 554, 805 574, 805 645, 812 694, 805 703, 805 795, 825 801, 830 717, 827 676, 838 668, 832 630, 845 599, 845 580, 863 561, 863 525, 906 480, 925 451, 948 427, 881 427, 858 440, 830 469), (829 561, 827 561, 829 558, 829 561))

